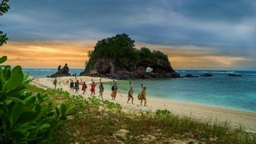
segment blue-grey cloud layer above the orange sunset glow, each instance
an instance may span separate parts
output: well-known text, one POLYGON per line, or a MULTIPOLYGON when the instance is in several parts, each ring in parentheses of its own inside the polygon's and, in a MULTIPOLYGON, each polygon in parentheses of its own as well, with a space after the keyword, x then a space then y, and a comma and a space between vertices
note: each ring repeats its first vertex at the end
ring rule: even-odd
POLYGON ((253 0, 22 0, 10 5, 1 23, 12 41, 95 41, 126 33, 138 43, 255 56, 253 0))

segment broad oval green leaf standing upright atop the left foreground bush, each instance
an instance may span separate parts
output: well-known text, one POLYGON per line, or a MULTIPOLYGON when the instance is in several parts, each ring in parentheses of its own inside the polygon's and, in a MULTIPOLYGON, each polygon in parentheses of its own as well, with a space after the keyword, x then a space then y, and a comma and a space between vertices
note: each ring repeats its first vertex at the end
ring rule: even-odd
POLYGON ((23 81, 23 73, 21 66, 15 66, 11 71, 10 78, 4 85, 4 90, 13 90, 20 86, 23 81))

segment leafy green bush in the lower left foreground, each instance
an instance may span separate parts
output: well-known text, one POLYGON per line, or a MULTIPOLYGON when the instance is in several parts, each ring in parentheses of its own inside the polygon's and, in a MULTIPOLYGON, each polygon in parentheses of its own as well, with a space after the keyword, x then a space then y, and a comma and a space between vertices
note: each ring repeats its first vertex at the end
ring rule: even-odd
MULTIPOLYGON (((6 59, 0 58, 0 64, 6 59)), ((51 142, 60 122, 73 114, 64 104, 55 107, 46 102, 47 95, 32 94, 26 89, 29 82, 29 74, 23 74, 21 66, 0 65, 0 142, 51 142)))

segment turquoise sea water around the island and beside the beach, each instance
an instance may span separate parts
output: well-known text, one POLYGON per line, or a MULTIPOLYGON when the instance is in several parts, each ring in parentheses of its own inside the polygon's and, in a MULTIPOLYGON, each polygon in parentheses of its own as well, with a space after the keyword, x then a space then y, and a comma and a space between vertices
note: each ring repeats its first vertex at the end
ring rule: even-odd
MULTIPOLYGON (((56 70, 26 69, 34 77, 46 77, 56 70)), ((82 70, 70 70, 79 74, 82 70)), ((256 71, 225 70, 177 70, 182 76, 193 74, 198 78, 161 78, 133 80, 134 96, 137 97, 141 84, 146 86, 147 96, 179 102, 194 102, 201 105, 256 112, 256 71), (213 77, 200 77, 210 73, 213 77), (242 77, 229 77, 228 74, 241 74, 242 77)), ((105 85, 110 89, 113 82, 105 85)), ((118 81, 121 93, 128 93, 129 81, 118 81)), ((126 95, 122 95, 126 98, 126 95)))

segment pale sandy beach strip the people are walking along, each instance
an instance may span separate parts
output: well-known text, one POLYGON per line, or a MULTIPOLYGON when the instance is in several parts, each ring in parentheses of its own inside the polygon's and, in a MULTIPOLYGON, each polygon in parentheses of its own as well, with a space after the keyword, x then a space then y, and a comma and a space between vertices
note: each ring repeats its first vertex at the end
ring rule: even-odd
MULTIPOLYGON (((58 78, 58 86, 57 88, 62 88, 63 90, 70 91, 69 82, 70 78, 74 80, 74 77, 62 77, 58 78)), ((88 88, 87 94, 82 94, 82 90, 79 90, 80 95, 83 95, 84 98, 90 97, 90 77, 78 77, 78 79, 82 79, 85 81, 88 88)), ((95 78, 94 78, 95 79, 95 78)), ((34 78, 31 84, 35 86, 39 86, 42 88, 54 88, 53 85, 54 78, 34 78)), ((96 85, 98 84, 97 80, 96 85)), ((102 78, 102 82, 112 82, 112 79, 102 78)), ((81 88, 82 86, 80 86, 81 88)), ((70 92, 74 94, 74 92, 70 92)), ((103 97, 109 101, 111 100, 110 97, 111 90, 104 90, 103 97)), ((98 97, 98 85, 96 86, 96 97, 98 97)), ((190 116, 194 118, 198 118, 202 121, 218 121, 218 122, 230 122, 231 126, 237 127, 242 125, 246 132, 256 133, 256 113, 245 112, 241 110, 228 110, 222 109, 214 106, 203 106, 198 105, 195 103, 190 102, 176 102, 172 100, 166 100, 161 98, 151 98, 150 96, 147 97, 147 106, 140 106, 140 102, 138 101, 137 95, 134 95, 134 104, 126 103, 127 102, 127 94, 122 94, 117 98, 114 102, 120 103, 126 110, 150 110, 154 112, 158 109, 167 109, 171 110, 174 114, 179 114, 181 116, 190 116)))

